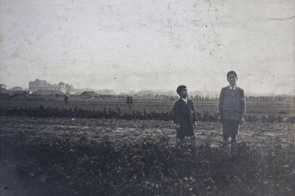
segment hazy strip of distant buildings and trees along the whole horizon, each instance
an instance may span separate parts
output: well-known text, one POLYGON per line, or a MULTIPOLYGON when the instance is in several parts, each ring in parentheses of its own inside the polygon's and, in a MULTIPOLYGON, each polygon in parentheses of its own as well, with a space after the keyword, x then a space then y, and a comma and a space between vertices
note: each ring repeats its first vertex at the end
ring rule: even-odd
MULTIPOLYGON (((13 87, 6 89, 4 84, 0 84, 0 98, 13 99, 13 98, 126 98, 132 96, 133 98, 140 99, 177 99, 179 96, 176 91, 150 91, 142 90, 139 92, 130 91, 129 93, 116 94, 113 90, 94 90, 94 89, 74 89, 73 85, 64 82, 58 84, 50 84, 46 80, 35 79, 29 82, 29 89, 22 87, 13 87)), ((217 100, 219 92, 208 91, 206 86, 203 91, 193 91, 189 93, 189 98, 193 100, 217 100)), ((294 96, 281 96, 281 95, 267 95, 267 96, 253 96, 246 95, 246 100, 252 101, 281 101, 281 100, 294 100, 294 96)))

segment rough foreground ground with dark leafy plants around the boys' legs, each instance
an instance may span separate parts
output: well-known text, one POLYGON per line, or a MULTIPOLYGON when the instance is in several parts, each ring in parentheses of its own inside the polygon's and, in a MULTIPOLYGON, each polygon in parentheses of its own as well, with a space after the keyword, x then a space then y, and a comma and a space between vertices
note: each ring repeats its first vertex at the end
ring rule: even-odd
POLYGON ((0 196, 294 196, 295 124, 0 117, 0 196))

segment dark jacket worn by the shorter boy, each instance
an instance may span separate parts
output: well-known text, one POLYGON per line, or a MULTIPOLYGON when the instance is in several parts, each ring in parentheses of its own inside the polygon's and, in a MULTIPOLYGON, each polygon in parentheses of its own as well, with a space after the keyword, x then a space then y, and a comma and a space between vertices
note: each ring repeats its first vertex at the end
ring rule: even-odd
POLYGON ((174 123, 179 123, 182 130, 194 128, 194 121, 197 121, 196 111, 192 100, 187 99, 187 104, 179 98, 173 107, 174 123))

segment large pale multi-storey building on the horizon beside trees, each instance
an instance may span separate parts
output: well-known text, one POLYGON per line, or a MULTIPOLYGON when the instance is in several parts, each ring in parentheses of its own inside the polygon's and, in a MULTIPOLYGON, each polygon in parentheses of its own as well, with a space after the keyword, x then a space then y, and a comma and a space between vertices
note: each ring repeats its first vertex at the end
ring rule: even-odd
POLYGON ((59 82, 59 84, 50 84, 47 83, 46 80, 39 79, 35 79, 35 81, 29 82, 29 91, 31 92, 35 92, 38 90, 57 90, 67 94, 73 89, 73 85, 65 84, 63 82, 59 82))

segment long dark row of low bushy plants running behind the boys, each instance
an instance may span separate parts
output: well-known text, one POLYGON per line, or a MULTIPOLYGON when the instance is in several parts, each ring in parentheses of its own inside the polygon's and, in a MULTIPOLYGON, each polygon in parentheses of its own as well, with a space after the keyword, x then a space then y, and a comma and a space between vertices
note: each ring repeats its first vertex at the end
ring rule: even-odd
MULTIPOLYGON (((96 119, 122 119, 122 120, 158 120, 158 121, 172 121, 173 113, 170 112, 147 112, 147 111, 123 111, 119 108, 117 110, 103 109, 103 110, 89 110, 80 109, 75 107, 72 108, 52 108, 52 107, 40 107, 36 108, 0 108, 0 116, 19 116, 19 117, 41 117, 41 118, 96 118, 96 119)), ((204 122, 216 122, 218 119, 217 114, 209 113, 208 111, 203 111, 201 113, 197 112, 197 118, 199 121, 204 122)), ((284 120, 280 116, 275 115, 246 115, 244 120, 249 123, 284 123, 284 120)), ((289 116, 286 120, 287 123, 295 123, 295 117, 289 116)))

